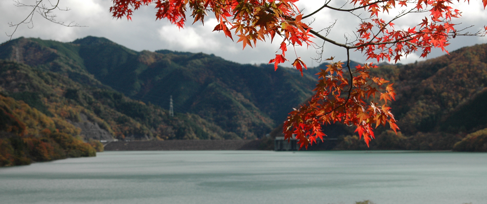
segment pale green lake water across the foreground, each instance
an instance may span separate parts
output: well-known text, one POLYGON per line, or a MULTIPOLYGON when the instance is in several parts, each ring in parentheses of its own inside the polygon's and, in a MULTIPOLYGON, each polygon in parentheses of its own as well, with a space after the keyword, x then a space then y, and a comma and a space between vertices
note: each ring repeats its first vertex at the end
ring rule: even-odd
POLYGON ((103 152, 0 168, 0 204, 487 204, 487 154, 103 152))

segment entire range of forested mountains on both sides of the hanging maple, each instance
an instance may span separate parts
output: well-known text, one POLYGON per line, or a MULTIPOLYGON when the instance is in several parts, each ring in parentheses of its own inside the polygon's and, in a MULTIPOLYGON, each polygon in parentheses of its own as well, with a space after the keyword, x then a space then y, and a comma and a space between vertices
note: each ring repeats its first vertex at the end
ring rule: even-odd
MULTIPOLYGON (((451 149, 461 140, 484 137, 486 50, 486 44, 475 45, 371 70, 394 82, 397 101, 391 106, 401 128, 395 136, 379 127, 371 149, 451 149)), ((308 68, 301 77, 295 69, 274 71, 272 65, 203 53, 137 52, 96 37, 19 38, 0 46, 0 59, 0 145, 7 146, 14 145, 14 136, 55 141, 50 136, 55 133, 85 141, 256 139, 273 129, 276 136, 288 112, 313 94, 314 74, 326 65, 308 68), (170 96, 174 117, 167 110, 170 96)), ((366 148, 353 128, 327 128, 340 138, 337 148, 366 148)))

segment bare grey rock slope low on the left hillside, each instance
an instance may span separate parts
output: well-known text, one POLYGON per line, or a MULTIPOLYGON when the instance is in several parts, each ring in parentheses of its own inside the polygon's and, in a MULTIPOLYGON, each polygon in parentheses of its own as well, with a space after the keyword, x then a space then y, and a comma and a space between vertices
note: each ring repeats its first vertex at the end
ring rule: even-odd
POLYGON ((100 126, 98 126, 98 123, 96 122, 90 122, 88 120, 88 117, 80 113, 79 114, 81 118, 81 122, 71 122, 76 127, 79 127, 81 129, 80 135, 84 138, 84 140, 89 141, 90 139, 92 140, 105 140, 105 141, 113 141, 114 138, 110 133, 102 129, 100 126))

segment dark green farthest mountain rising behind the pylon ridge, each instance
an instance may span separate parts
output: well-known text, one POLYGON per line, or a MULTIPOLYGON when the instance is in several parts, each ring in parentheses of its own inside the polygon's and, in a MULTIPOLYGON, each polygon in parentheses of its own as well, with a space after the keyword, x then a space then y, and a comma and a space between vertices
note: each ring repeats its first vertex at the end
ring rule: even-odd
POLYGON ((96 37, 71 43, 17 39, 0 48, 0 58, 164 109, 172 96, 175 112, 196 114, 247 139, 262 137, 284 121, 315 84, 288 68, 274 71, 203 53, 136 52, 96 37))

